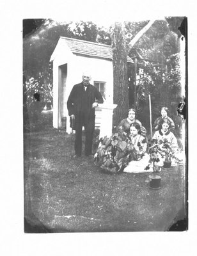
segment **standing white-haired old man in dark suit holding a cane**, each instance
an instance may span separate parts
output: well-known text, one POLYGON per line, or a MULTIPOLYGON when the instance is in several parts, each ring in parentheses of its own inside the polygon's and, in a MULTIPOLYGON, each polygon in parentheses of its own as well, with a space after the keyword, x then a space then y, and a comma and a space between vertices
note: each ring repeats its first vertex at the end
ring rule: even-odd
POLYGON ((93 132, 95 130, 95 108, 103 103, 100 92, 90 84, 91 76, 84 72, 82 83, 75 84, 67 101, 68 115, 75 119, 75 156, 81 156, 82 127, 85 130, 85 155, 92 154, 93 132))

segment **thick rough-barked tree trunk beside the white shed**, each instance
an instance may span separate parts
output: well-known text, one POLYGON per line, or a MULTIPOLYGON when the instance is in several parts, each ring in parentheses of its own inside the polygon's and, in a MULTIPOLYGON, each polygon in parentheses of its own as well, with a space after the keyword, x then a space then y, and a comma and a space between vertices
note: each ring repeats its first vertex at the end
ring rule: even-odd
POLYGON ((117 126, 120 121, 127 117, 129 108, 129 91, 127 78, 127 45, 125 40, 124 25, 116 22, 113 37, 113 77, 114 77, 114 109, 113 125, 117 126))

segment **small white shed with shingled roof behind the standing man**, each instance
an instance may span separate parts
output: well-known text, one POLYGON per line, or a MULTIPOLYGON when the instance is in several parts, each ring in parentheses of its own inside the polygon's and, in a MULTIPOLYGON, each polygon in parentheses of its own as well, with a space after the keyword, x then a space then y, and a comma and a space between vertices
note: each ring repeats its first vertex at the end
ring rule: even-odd
MULTIPOLYGON (((113 114, 113 63, 110 45, 77 40, 61 36, 52 53, 53 61, 53 126, 67 127, 70 132, 67 100, 74 84, 81 83, 84 70, 91 74, 90 83, 104 97, 105 109, 113 114)), ((128 62, 133 61, 128 57, 128 62)), ((95 126, 100 126, 102 104, 96 110, 95 126)), ((109 122, 108 122, 109 125, 109 122)))

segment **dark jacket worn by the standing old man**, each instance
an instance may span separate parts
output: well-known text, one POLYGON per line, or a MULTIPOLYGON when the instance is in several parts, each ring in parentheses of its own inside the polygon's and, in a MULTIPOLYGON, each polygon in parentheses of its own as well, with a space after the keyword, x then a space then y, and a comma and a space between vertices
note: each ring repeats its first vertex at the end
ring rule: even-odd
POLYGON ((67 101, 68 115, 77 115, 82 111, 88 116, 95 116, 93 102, 103 103, 102 95, 97 88, 88 84, 85 92, 83 83, 75 84, 67 101))

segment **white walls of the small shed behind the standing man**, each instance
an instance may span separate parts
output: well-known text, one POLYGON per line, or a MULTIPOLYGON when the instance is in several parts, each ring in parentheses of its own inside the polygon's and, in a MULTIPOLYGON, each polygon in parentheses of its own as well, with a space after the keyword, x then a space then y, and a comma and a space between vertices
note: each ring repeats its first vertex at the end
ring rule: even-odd
MULTIPOLYGON (((91 84, 93 84, 94 81, 106 82, 106 101, 113 104, 113 64, 112 61, 108 60, 77 56, 72 54, 68 48, 66 49, 66 52, 67 54, 60 54, 58 51, 53 61, 53 126, 55 128, 61 126, 61 120, 58 120, 59 66, 67 63, 67 82, 62 88, 64 95, 62 97, 63 109, 61 117, 67 118, 67 132, 70 133, 71 129, 67 100, 74 84, 81 83, 84 70, 88 70, 91 74, 91 84)), ((96 119, 99 120, 97 115, 100 115, 100 113, 97 113, 96 111, 96 119)), ((99 124, 97 124, 97 126, 99 126, 99 124)))

